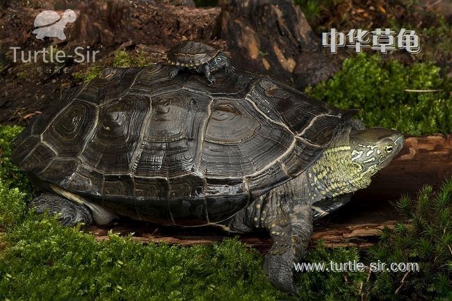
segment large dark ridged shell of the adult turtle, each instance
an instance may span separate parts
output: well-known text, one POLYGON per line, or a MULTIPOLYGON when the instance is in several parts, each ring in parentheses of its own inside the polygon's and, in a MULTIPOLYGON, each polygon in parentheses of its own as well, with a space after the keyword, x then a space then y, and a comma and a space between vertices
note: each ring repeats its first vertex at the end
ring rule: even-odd
POLYGON ((15 140, 33 179, 131 218, 220 222, 297 177, 344 114, 268 77, 168 78, 170 66, 108 68, 15 140))

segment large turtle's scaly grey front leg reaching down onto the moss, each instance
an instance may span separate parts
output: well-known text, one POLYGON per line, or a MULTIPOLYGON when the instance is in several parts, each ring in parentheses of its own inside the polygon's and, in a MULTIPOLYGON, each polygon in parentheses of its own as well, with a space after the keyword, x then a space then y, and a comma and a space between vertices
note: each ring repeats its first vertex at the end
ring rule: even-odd
POLYGON ((289 185, 280 186, 268 195, 242 209, 227 224, 230 231, 249 233, 257 229, 270 232, 273 245, 264 261, 264 272, 273 286, 297 295, 293 263, 305 257, 312 235, 312 209, 310 203, 300 199, 302 193, 285 191, 289 185))

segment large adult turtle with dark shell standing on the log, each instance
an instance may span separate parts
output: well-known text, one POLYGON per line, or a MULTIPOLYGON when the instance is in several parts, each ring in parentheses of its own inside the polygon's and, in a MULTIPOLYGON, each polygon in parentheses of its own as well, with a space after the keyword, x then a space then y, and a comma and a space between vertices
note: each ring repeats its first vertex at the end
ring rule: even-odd
POLYGON ((65 225, 117 214, 161 225, 268 231, 264 270, 296 292, 312 218, 345 204, 396 156, 401 133, 247 72, 215 84, 168 65, 108 68, 15 140, 12 159, 65 225))

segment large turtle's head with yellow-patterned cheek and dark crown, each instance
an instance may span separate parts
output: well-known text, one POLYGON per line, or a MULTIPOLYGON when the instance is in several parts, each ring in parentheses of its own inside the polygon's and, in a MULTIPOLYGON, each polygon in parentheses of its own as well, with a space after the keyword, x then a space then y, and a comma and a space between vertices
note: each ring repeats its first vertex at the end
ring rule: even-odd
POLYGON ((384 168, 403 147, 403 135, 392 129, 364 129, 350 133, 353 164, 371 177, 384 168))

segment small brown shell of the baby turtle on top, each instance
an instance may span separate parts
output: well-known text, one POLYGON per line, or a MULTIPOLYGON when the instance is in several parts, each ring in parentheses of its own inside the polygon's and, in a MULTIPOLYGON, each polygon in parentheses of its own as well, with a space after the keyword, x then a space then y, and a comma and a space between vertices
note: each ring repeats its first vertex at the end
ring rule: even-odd
POLYGON ((167 60, 171 65, 197 67, 207 63, 220 51, 220 48, 204 42, 184 41, 168 51, 167 60))

